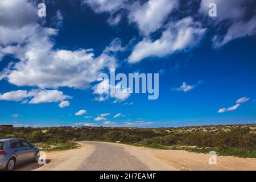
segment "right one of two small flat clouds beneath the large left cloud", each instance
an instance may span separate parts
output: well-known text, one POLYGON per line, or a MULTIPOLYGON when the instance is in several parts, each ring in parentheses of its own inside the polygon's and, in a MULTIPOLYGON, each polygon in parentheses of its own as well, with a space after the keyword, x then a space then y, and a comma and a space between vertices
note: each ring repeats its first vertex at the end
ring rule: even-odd
POLYGON ((58 90, 43 90, 34 95, 29 104, 39 104, 43 102, 59 102, 65 99, 72 98, 67 96, 58 90))

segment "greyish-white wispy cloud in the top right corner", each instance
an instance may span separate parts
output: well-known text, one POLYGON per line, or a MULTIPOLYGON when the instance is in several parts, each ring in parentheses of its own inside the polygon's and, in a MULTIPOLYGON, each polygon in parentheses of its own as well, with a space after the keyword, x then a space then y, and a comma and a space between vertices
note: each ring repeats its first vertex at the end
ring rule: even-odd
POLYGON ((217 17, 211 18, 213 28, 224 27, 224 23, 228 27, 226 34, 217 32, 217 35, 213 37, 214 48, 220 48, 234 39, 256 33, 255 8, 251 8, 255 7, 253 0, 236 0, 232 3, 222 0, 202 0, 199 12, 204 16, 208 16, 209 3, 217 5, 217 17))

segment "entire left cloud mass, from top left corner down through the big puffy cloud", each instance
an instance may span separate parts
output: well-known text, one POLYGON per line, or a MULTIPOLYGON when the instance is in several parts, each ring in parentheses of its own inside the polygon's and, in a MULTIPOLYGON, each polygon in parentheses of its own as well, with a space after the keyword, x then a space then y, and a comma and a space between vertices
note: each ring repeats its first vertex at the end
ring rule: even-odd
POLYGON ((57 35, 57 30, 36 21, 37 8, 28 1, 1 1, 0 8, 1 13, 2 9, 8 12, 3 13, 0 20, 1 57, 8 54, 20 60, 0 73, 0 78, 11 84, 85 89, 97 80, 102 69, 117 66, 113 56, 102 53, 96 57, 93 49, 54 49, 52 36, 57 35), (27 20, 20 19, 23 17, 20 14, 24 14, 20 12, 26 12, 27 20))

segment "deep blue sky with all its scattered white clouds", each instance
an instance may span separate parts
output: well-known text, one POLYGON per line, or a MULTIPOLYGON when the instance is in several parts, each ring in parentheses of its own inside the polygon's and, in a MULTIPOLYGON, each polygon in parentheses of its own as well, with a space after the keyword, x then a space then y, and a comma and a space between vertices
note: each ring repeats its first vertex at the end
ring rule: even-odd
POLYGON ((256 122, 255 2, 56 0, 39 17, 40 2, 0 2, 0 124, 256 122), (95 93, 110 68, 159 73, 158 100, 95 93))

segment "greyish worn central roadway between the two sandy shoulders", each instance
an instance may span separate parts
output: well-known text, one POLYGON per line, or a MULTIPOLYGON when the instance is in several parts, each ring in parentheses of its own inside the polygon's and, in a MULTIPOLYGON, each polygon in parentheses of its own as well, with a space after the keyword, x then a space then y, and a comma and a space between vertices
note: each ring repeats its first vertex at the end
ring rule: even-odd
POLYGON ((145 170, 176 170, 154 156, 140 154, 115 143, 82 142, 96 147, 92 155, 86 158, 79 170, 82 171, 145 171, 145 170))

